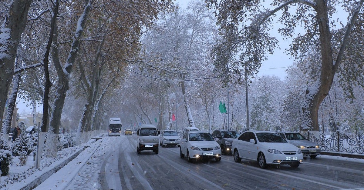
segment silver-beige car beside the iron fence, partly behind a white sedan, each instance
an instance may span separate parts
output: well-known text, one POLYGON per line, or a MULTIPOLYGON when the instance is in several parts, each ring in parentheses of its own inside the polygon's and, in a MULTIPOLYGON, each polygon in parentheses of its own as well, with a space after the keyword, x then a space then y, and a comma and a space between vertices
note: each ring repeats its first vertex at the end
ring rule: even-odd
POLYGON ((321 153, 321 148, 320 146, 318 146, 317 143, 305 139, 305 137, 299 132, 282 131, 278 132, 278 134, 282 135, 283 138, 285 138, 292 145, 297 146, 299 149, 301 149, 304 156, 316 158, 317 155, 320 155, 321 153))

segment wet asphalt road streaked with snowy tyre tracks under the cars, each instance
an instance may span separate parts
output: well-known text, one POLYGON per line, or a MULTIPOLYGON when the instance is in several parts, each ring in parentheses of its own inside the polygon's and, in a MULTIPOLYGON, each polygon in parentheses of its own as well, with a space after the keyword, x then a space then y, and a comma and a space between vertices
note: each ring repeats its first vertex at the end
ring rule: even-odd
POLYGON ((189 163, 179 157, 178 147, 136 150, 136 135, 109 137, 91 157, 67 189, 185 190, 185 189, 359 189, 364 184, 364 161, 320 155, 305 158, 298 168, 260 169, 257 163, 189 163))

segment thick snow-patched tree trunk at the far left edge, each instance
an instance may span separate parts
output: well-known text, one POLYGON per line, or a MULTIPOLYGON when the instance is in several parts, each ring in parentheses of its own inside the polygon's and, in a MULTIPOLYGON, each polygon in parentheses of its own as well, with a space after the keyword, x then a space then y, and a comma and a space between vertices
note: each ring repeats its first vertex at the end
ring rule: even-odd
POLYGON ((21 33, 27 24, 32 0, 14 0, 0 28, 0 131, 3 128, 5 102, 13 78, 16 51, 21 33))

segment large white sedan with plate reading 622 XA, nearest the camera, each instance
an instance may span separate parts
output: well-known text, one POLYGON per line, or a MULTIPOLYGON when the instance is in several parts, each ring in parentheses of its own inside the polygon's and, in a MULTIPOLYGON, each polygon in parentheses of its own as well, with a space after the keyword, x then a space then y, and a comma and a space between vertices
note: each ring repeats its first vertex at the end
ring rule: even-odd
POLYGON ((303 162, 301 149, 288 143, 280 134, 271 131, 245 131, 233 140, 234 161, 256 161, 259 167, 288 164, 298 167, 303 162))

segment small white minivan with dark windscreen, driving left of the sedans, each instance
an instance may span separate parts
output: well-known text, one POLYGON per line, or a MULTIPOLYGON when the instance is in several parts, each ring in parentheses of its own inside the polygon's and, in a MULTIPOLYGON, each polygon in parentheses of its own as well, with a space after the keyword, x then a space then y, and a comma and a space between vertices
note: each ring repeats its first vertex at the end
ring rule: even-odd
POLYGON ((137 153, 141 154, 142 150, 153 150, 158 154, 158 135, 159 131, 154 125, 142 124, 137 131, 137 153))

